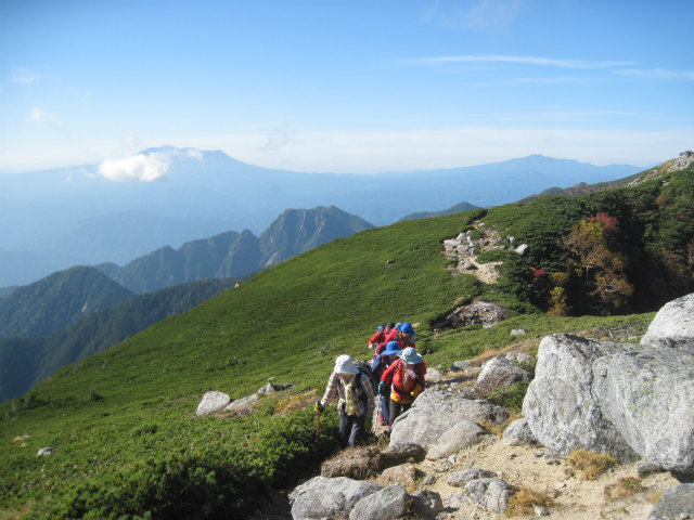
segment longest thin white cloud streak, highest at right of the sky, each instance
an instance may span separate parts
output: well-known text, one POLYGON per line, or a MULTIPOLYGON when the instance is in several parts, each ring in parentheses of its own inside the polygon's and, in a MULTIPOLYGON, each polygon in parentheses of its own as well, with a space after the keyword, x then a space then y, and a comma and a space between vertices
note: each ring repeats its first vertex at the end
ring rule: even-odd
POLYGON ((579 68, 579 69, 604 69, 615 67, 626 67, 635 65, 634 62, 620 61, 593 61, 593 60, 561 60, 555 57, 542 56, 511 56, 504 54, 465 54, 461 56, 433 56, 433 57, 415 57, 404 60, 404 63, 411 65, 437 66, 453 63, 474 63, 474 64, 514 64, 514 65, 536 65, 543 67, 556 68, 579 68))

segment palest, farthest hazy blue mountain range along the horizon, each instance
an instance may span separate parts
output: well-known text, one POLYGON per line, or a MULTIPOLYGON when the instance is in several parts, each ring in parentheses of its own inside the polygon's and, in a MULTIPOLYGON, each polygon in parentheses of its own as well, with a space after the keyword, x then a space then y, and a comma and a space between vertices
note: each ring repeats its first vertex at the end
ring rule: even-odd
POLYGON ((176 249, 229 230, 258 234, 287 208, 336 206, 384 225, 461 200, 494 206, 549 186, 609 181, 638 171, 634 166, 529 156, 407 173, 312 174, 259 168, 221 152, 165 146, 101 168, 0 174, 0 287, 76 264, 124 265, 163 246, 176 249), (149 165, 157 179, 116 182, 105 177, 117 178, 114 169, 131 167, 130 159, 149 165))

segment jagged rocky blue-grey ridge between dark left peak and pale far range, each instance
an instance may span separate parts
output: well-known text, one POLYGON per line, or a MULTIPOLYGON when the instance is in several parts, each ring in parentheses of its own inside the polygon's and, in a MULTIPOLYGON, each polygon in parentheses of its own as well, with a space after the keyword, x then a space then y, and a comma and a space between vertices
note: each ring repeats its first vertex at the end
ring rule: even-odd
POLYGON ((228 231, 178 249, 162 247, 123 268, 98 268, 134 292, 149 292, 195 280, 246 276, 368 227, 369 222, 335 207, 287 209, 259 237, 248 230, 228 231))

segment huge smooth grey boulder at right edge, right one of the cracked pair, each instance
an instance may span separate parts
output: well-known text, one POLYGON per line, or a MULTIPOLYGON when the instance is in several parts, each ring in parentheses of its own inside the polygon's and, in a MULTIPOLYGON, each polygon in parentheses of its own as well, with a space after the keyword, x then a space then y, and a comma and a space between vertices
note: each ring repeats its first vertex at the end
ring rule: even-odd
POLYGON ((694 473, 694 340, 691 347, 593 363, 593 393, 603 415, 643 458, 687 473, 694 473))

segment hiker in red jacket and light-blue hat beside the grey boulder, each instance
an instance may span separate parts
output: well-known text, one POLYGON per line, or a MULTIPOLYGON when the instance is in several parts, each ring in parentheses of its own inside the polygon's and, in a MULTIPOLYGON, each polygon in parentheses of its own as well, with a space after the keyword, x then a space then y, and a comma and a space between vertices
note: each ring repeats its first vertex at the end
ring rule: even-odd
POLYGON ((414 347, 401 350, 396 360, 381 376, 378 394, 387 393, 390 386, 389 417, 387 431, 398 416, 410 408, 416 396, 424 391, 426 363, 414 347))

